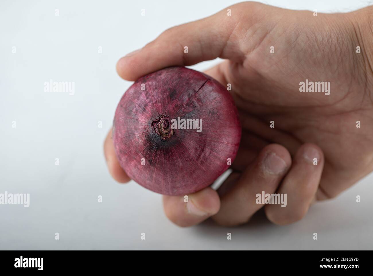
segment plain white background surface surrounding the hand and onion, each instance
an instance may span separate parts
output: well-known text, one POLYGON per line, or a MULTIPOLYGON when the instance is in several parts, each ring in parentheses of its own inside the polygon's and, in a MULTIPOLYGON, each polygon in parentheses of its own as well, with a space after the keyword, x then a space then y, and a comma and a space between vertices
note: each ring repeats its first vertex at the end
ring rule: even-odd
MULTIPOLYGON (((238 228, 208 221, 186 229, 167 220, 160 195, 110 178, 103 140, 131 85, 117 76, 116 61, 165 29, 234 1, 34 2, 0 2, 0 193, 31 197, 28 208, 0 205, 0 249, 373 248, 372 175, 340 197, 313 206, 293 225, 275 226, 258 215, 238 228), (55 9, 60 16, 54 16, 55 9), (44 92, 50 79, 74 81, 75 95, 44 92), (103 128, 97 127, 99 120, 103 128), (103 203, 97 202, 98 195, 103 203), (356 195, 361 203, 355 202, 356 195)), ((367 6, 367 1, 350 0, 266 3, 318 12, 367 6)), ((204 70, 217 62, 192 68, 204 70)))

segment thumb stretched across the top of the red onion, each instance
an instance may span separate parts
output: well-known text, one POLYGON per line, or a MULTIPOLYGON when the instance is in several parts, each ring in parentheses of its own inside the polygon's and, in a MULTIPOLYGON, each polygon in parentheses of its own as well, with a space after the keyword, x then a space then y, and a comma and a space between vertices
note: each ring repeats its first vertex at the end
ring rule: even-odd
POLYGON ((232 32, 238 22, 239 16, 227 16, 223 10, 167 29, 142 49, 122 57, 117 63, 117 72, 123 79, 135 81, 168 66, 193 65, 217 57, 242 59, 244 53, 232 43, 232 32))

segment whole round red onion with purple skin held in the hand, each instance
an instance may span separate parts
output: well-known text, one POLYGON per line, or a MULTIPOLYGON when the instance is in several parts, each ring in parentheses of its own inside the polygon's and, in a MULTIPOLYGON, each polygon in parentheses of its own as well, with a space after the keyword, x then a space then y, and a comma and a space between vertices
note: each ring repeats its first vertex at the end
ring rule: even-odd
POLYGON ((120 166, 141 186, 166 195, 211 185, 228 169, 227 159, 235 159, 240 140, 238 112, 226 88, 204 73, 177 66, 135 81, 113 122, 120 166), (177 117, 202 119, 202 131, 171 129, 177 117))

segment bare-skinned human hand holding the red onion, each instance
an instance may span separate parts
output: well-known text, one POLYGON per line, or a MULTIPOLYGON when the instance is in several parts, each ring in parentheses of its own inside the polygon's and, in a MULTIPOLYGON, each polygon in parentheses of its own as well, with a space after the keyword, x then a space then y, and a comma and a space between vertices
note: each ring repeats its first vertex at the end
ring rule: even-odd
MULTIPOLYGON (((117 72, 135 81, 167 66, 225 59, 206 73, 232 85, 242 124, 234 172, 217 192, 205 188, 187 204, 163 196, 164 211, 179 226, 209 217, 232 226, 264 208, 271 222, 286 225, 373 170, 373 9, 314 16, 253 2, 228 8, 166 30, 120 59, 117 72), (330 95, 300 92, 305 79, 330 82, 330 95), (286 193, 287 206, 256 204, 262 191, 286 193)), ((113 178, 128 182, 111 130, 104 151, 113 178)))

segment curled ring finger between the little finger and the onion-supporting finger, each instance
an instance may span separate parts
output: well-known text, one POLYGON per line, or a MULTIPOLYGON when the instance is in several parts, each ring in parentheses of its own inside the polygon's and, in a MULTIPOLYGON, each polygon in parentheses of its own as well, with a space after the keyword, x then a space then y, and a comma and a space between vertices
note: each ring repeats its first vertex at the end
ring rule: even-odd
POLYGON ((236 185, 221 198, 219 213, 213 219, 221 225, 247 222, 264 203, 257 203, 257 194, 274 193, 291 166, 291 157, 281 145, 263 148, 256 160, 247 167, 236 185))

